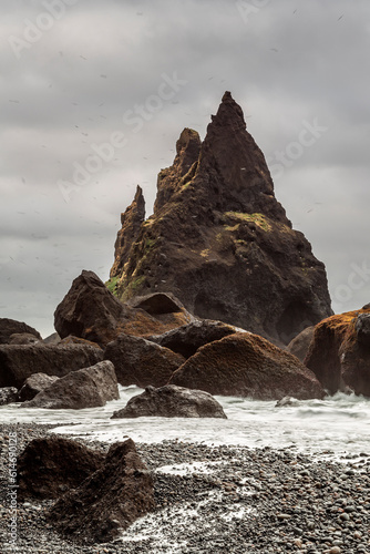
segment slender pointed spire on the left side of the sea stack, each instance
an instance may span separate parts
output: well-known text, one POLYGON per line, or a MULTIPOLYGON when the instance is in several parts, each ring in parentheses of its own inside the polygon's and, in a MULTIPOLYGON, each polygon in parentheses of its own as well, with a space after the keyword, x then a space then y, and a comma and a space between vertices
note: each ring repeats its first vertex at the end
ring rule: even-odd
POLYGON ((135 197, 124 214, 121 214, 122 228, 119 230, 114 245, 114 264, 111 269, 111 278, 121 275, 123 266, 129 259, 130 248, 136 240, 140 227, 145 219, 145 201, 143 191, 136 188, 135 197))

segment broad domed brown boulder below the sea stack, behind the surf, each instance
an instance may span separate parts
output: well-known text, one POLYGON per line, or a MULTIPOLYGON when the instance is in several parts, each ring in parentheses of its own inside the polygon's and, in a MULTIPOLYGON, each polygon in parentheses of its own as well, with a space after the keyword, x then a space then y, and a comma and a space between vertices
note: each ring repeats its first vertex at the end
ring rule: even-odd
POLYGON ((315 375, 295 356, 248 332, 201 347, 175 371, 169 383, 261 400, 323 397, 315 375))

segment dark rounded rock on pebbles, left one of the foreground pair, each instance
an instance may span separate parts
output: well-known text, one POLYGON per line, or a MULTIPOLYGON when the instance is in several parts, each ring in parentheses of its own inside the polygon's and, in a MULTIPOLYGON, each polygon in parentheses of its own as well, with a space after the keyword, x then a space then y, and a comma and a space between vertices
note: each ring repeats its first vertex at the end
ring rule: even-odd
POLYGON ((94 473, 105 454, 60 437, 32 440, 19 455, 19 500, 58 499, 94 473))

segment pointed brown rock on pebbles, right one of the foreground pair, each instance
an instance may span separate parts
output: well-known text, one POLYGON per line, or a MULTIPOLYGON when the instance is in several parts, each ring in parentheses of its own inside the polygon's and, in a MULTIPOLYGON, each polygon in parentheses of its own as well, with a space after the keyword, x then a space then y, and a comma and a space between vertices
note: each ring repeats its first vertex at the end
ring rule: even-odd
POLYGON ((50 522, 86 543, 112 541, 154 509, 153 479, 129 439, 113 444, 103 466, 59 499, 50 522))

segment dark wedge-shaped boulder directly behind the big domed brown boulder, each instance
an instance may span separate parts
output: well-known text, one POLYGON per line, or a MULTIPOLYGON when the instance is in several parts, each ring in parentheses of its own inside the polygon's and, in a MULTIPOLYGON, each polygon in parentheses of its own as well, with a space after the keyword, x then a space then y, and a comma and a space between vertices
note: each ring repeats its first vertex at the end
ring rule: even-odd
POLYGON ((148 339, 165 348, 169 348, 174 352, 181 353, 185 358, 189 358, 201 346, 214 340, 220 340, 236 331, 235 327, 222 321, 203 319, 202 321, 183 325, 163 335, 148 337, 148 339))

